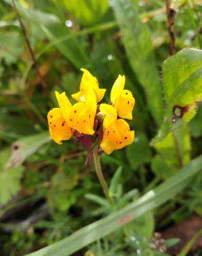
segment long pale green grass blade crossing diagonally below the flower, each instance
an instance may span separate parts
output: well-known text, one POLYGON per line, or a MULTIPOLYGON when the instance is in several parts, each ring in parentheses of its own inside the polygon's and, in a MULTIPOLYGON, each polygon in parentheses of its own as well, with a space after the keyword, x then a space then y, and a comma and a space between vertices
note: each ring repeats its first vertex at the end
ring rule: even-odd
POLYGON ((192 181, 193 176, 199 173, 201 168, 202 156, 199 156, 177 174, 158 185, 155 190, 150 190, 133 203, 129 203, 124 208, 109 214, 109 216, 77 230, 69 237, 27 256, 66 256, 75 253, 84 246, 109 235, 126 223, 138 219, 138 217, 172 199, 192 181))

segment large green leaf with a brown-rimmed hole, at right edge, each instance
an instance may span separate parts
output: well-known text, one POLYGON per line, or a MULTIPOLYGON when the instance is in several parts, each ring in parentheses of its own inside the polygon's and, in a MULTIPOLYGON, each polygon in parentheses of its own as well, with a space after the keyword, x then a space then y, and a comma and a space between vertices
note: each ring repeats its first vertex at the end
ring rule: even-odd
POLYGON ((189 122, 202 99, 202 51, 183 49, 163 64, 163 91, 167 109, 152 145, 189 122))

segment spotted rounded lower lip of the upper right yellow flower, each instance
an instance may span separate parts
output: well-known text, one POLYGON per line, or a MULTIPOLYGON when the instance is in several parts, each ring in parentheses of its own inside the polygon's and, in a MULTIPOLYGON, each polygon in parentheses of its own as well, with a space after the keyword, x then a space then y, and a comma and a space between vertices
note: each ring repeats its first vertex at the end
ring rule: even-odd
POLYGON ((120 118, 133 119, 132 111, 134 109, 135 99, 132 93, 128 90, 123 90, 122 93, 116 98, 114 107, 117 110, 120 118))

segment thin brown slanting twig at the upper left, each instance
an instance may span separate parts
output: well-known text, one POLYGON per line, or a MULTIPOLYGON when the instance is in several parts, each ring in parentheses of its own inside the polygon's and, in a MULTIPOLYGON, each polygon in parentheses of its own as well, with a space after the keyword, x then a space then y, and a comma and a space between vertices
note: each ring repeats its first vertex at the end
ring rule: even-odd
POLYGON ((46 86, 46 83, 44 82, 44 77, 43 77, 42 74, 40 73, 39 68, 38 68, 38 66, 37 66, 37 61, 36 61, 36 58, 35 58, 35 53, 34 53, 34 51, 33 51, 32 46, 30 45, 30 40, 28 39, 28 35, 27 35, 27 33, 26 33, 26 28, 25 28, 25 26, 24 26, 24 24, 23 24, 23 22, 22 22, 22 20, 21 20, 21 17, 20 17, 20 15, 19 15, 18 10, 17 10, 17 6, 15 5, 15 0, 12 0, 12 5, 13 5, 13 8, 14 8, 14 10, 15 10, 15 12, 16 12, 17 19, 19 20, 19 24, 20 24, 20 26, 21 26, 21 31, 22 31, 22 33, 23 33, 23 35, 24 35, 25 40, 26 40, 26 44, 27 44, 27 46, 28 46, 28 51, 29 51, 30 56, 31 56, 31 58, 32 58, 32 60, 33 60, 33 64, 34 64, 35 69, 36 69, 36 71, 37 71, 37 75, 39 75, 39 77, 40 77, 40 79, 41 79, 42 86, 44 86, 44 88, 46 88, 47 86, 46 86))

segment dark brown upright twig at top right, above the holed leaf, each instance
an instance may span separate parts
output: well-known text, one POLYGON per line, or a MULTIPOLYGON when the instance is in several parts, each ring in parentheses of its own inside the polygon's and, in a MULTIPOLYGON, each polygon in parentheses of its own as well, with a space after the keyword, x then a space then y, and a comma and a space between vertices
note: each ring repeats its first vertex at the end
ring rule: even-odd
POLYGON ((167 14, 167 29, 169 33, 169 55, 174 55, 176 53, 174 37, 174 17, 176 15, 176 11, 170 8, 169 0, 165 0, 165 7, 167 14))

